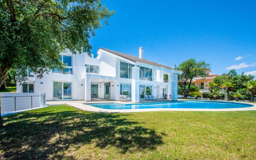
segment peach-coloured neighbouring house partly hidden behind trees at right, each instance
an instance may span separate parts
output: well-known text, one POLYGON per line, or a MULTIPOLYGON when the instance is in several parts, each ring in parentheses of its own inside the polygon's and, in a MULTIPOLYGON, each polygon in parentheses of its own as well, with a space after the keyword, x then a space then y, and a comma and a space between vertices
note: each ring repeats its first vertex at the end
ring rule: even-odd
POLYGON ((211 74, 211 70, 210 69, 205 69, 205 72, 207 73, 206 77, 196 77, 192 80, 191 85, 194 85, 195 87, 199 87, 199 89, 201 90, 208 90, 209 87, 207 87, 206 85, 208 85, 210 82, 213 82, 213 79, 218 76, 217 74, 211 74))

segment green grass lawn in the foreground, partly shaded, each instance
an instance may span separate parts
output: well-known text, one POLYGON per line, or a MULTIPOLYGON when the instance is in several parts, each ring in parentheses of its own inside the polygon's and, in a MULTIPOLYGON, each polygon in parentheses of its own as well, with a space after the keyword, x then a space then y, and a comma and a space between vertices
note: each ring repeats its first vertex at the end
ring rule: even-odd
POLYGON ((0 159, 256 159, 256 111, 103 114, 52 106, 4 121, 0 159))

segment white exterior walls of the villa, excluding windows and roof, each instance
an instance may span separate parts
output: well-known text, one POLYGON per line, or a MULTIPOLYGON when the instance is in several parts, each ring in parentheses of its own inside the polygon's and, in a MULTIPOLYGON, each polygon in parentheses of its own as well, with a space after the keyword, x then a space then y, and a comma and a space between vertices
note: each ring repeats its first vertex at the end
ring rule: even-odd
MULTIPOLYGON (((72 55, 70 52, 63 54, 72 55)), ((120 84, 132 84, 131 78, 120 78, 120 61, 135 66, 152 68, 153 81, 139 80, 139 85, 152 85, 152 94, 154 96, 162 94, 161 88, 166 86, 167 93, 171 95, 172 85, 176 84, 171 82, 171 78, 168 83, 163 82, 163 74, 168 73, 169 77, 171 77, 170 75, 173 73, 179 74, 179 71, 151 66, 140 62, 135 63, 101 49, 98 51, 98 56, 96 58, 90 58, 86 53, 72 55, 72 75, 49 72, 49 74, 44 74, 42 79, 35 78, 36 75, 35 77, 29 77, 30 79, 27 82, 34 83, 34 92, 46 93, 47 101, 53 100, 53 81, 72 82, 72 100, 85 101, 91 100, 91 81, 98 81, 95 82, 99 84, 98 98, 104 98, 104 83, 110 82, 110 99, 119 100, 120 84), (85 64, 99 66, 99 74, 86 73, 85 64)), ((22 92, 22 86, 19 85, 19 83, 17 83, 17 92, 22 92)), ((159 96, 159 98, 163 98, 163 96, 159 96)), ((169 95, 167 95, 167 98, 169 98, 169 95)))

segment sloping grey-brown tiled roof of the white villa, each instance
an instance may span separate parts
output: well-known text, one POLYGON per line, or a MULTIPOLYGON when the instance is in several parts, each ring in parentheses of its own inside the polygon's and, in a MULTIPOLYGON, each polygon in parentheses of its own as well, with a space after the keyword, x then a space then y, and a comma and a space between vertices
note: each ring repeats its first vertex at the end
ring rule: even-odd
MULTIPOLYGON (((109 53, 115 54, 116 56, 120 56, 122 58, 128 59, 132 62, 141 62, 141 63, 149 64, 149 65, 152 65, 152 66, 162 67, 162 68, 166 68, 166 69, 173 69, 169 66, 165 66, 165 65, 162 65, 162 64, 159 64, 159 63, 156 63, 156 62, 152 62, 152 61, 147 60, 147 59, 141 59, 137 56, 132 56, 130 54, 125 54, 125 53, 121 53, 121 52, 117 52, 117 51, 114 51, 114 50, 109 50, 109 49, 101 48, 101 47, 99 47, 99 49, 102 49, 102 50, 105 50, 109 53)), ((177 69, 173 69, 173 70, 177 70, 177 69)))

